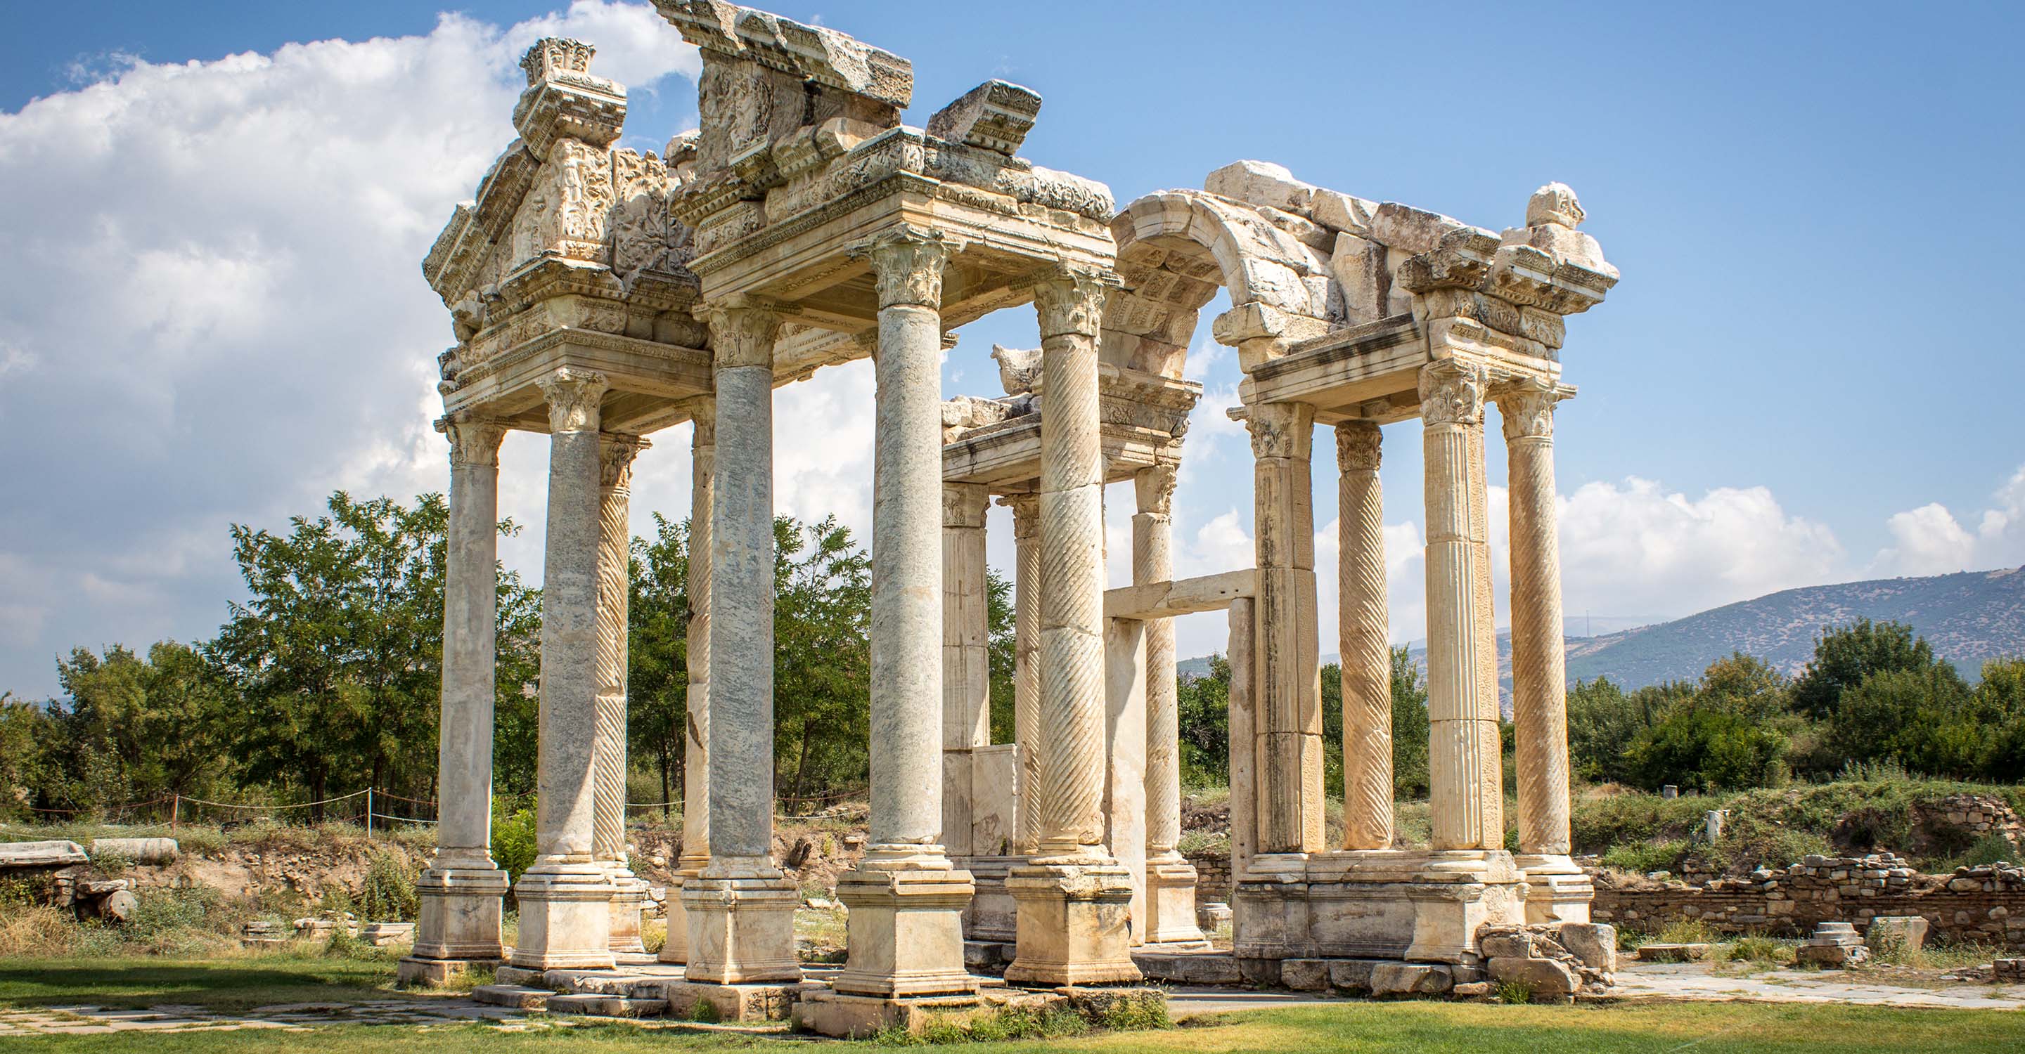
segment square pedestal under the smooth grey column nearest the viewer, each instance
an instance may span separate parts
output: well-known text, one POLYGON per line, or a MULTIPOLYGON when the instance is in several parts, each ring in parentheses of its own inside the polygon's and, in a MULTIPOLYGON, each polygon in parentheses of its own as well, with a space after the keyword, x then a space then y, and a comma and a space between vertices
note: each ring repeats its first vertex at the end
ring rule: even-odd
POLYGON ((972 888, 970 872, 950 868, 940 852, 861 862, 836 882, 850 929, 848 959, 830 987, 887 999, 976 993, 962 918, 972 888))

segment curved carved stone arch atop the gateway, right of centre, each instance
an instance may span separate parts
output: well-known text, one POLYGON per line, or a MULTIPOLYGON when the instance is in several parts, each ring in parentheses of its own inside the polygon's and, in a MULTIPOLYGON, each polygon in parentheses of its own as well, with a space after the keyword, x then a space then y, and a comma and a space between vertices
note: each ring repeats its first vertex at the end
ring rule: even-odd
POLYGON ((1233 316, 1314 320, 1294 328, 1316 332, 1326 318, 1326 257, 1247 204, 1156 190, 1118 212, 1112 239, 1124 287, 1104 305, 1106 364, 1181 376, 1197 314, 1219 287, 1233 316))

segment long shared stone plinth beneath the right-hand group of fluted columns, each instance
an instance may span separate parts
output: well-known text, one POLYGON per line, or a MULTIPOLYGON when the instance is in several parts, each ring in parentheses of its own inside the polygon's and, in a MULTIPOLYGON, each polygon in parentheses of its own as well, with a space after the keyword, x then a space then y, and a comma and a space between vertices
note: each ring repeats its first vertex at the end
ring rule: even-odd
MULTIPOLYGON (((1525 923, 1527 882, 1503 850, 1260 854, 1235 880, 1245 961, 1476 963, 1476 931, 1525 923)), ((1262 963, 1262 967, 1268 963, 1262 963)), ((1251 977, 1272 981, 1272 977, 1251 977)))

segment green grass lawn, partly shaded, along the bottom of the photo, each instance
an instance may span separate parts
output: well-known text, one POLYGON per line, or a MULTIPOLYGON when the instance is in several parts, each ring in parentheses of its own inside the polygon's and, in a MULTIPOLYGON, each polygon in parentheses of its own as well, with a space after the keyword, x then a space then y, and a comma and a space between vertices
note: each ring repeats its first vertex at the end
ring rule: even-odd
MULTIPOLYGON (((381 999, 391 991, 385 963, 318 959, 219 961, 0 961, 0 1005, 200 1003, 247 1009, 281 1001, 381 999)), ((1094 1034, 1073 1040, 964 1044, 994 1050, 1089 1052, 1413 1052, 1413 1054, 1695 1054, 1746 1052, 1974 1052, 2025 1050, 2025 1014, 1968 1009, 1883 1009, 1845 1005, 1663 1003, 1663 1005, 1486 1005, 1343 1003, 1199 1018, 1177 1032, 1094 1034)), ((20 1036, 6 1050, 367 1050, 605 1054, 691 1048, 755 1048, 804 1040, 727 1036, 699 1030, 589 1024, 567 1030, 498 1032, 488 1026, 326 1026, 310 1032, 192 1032, 111 1036, 20 1036)), ((869 1044, 861 1044, 869 1046, 869 1044)))

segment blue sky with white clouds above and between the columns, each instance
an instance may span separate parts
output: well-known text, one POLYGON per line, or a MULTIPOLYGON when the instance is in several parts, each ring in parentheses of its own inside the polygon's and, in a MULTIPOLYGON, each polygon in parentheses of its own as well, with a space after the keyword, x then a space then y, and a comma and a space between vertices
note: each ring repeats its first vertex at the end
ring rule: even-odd
MULTIPOLYGON (((1120 204, 1237 158, 1490 229, 1519 223, 1535 186, 1571 184, 1624 273, 1569 320, 1563 350, 1582 388, 1557 445, 1567 607, 1598 629, 1816 581, 2025 562, 2025 364, 2003 322, 2021 281, 2003 239, 2025 221, 2025 93, 2019 63, 1984 45, 2017 38, 2015 6, 772 10, 909 57, 915 125, 988 77, 1035 87, 1025 154, 1108 182, 1120 204)), ((16 481, 0 510, 0 690, 51 692, 73 643, 215 631, 237 595, 227 522, 279 526, 334 486, 443 486, 425 429, 448 324, 415 261, 510 138, 524 40, 561 28, 599 45, 595 69, 634 89, 630 146, 695 123, 695 57, 644 10, 458 12, 0 16, 0 427, 16 481), (314 40, 354 45, 290 47, 314 40)), ((1191 356, 1211 397, 1177 498, 1183 573, 1229 566, 1249 536, 1249 453, 1211 419, 1237 380, 1211 314, 1191 356)), ((984 352, 1031 330, 1010 314, 966 328, 946 392, 994 394, 984 352)), ((782 506, 863 530, 871 386, 838 374, 782 394, 834 433, 822 457, 786 457, 782 506)), ((678 431, 644 459, 636 530, 650 508, 684 512, 684 451, 678 431)), ((533 577, 541 455, 531 437, 506 451, 506 510, 537 528, 506 558, 533 577)), ((1503 484, 1496 441, 1490 461, 1503 484)), ((1389 429, 1401 639, 1420 635, 1418 471, 1418 437, 1389 429)), ((1332 494, 1324 455, 1318 528, 1332 494)), ((1008 528, 994 530, 1004 564, 1008 528)), ((1322 617, 1330 651, 1332 597, 1322 617)), ((1183 625, 1183 653, 1215 639, 1213 623, 1183 625)))

